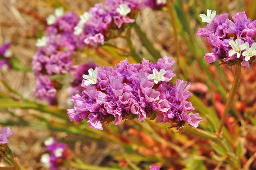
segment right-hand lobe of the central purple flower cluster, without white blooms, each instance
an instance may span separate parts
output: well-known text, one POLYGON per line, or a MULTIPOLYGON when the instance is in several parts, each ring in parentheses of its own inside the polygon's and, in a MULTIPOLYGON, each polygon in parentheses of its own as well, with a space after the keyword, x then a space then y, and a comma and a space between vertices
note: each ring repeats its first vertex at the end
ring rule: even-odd
POLYGON ((161 93, 159 99, 161 99, 160 111, 156 115, 156 123, 166 123, 171 121, 172 123, 186 122, 193 127, 198 127, 198 123, 202 121, 199 114, 187 114, 187 111, 194 110, 191 102, 186 101, 192 96, 192 93, 188 91, 190 83, 177 79, 176 86, 173 83, 166 85, 162 83, 158 91, 161 93), (170 109, 169 109, 170 108, 170 109), (168 109, 168 111, 166 111, 168 109))

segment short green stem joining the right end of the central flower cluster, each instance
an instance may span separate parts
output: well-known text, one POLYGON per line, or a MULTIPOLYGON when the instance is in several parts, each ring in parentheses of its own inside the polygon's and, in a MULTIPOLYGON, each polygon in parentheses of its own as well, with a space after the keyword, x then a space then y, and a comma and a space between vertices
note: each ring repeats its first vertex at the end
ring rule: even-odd
POLYGON ((205 139, 210 139, 210 140, 217 140, 218 139, 218 136, 216 134, 211 133, 211 132, 207 132, 207 131, 202 130, 202 129, 194 128, 194 127, 191 127, 191 126, 188 126, 188 125, 185 125, 183 129, 184 129, 185 132, 194 134, 196 136, 199 136, 199 137, 202 137, 202 138, 205 138, 205 139))

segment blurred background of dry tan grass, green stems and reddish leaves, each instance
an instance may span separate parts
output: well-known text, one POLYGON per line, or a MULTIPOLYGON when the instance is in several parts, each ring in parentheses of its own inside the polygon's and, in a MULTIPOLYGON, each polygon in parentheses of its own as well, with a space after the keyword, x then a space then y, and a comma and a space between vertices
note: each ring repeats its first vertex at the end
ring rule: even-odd
MULTIPOLYGON (((44 169, 40 158, 45 152, 44 140, 50 136, 65 142, 70 148, 70 164, 62 169, 148 169, 149 165, 161 166, 164 170, 204 170, 228 169, 223 156, 217 156, 210 142, 186 132, 177 132, 154 121, 126 121, 119 126, 112 124, 104 130, 93 130, 86 122, 77 126, 69 121, 66 109, 72 108, 69 88, 58 91, 58 105, 49 106, 34 97, 35 77, 31 71, 31 61, 36 53, 36 40, 46 35, 46 17, 54 9, 63 6, 65 10, 82 14, 100 0, 0 0, 0 44, 11 42, 11 50, 25 69, 10 69, 0 72, 0 125, 10 126, 15 132, 9 139, 9 146, 24 169, 44 169), (4 96, 7 96, 5 99, 4 96), (5 101, 5 102, 4 102, 5 101), (33 103, 32 101, 36 101, 33 103), (58 113, 58 114, 56 114, 58 113), (57 116, 56 116, 56 115, 57 116), (93 166, 90 166, 93 165, 93 166), (105 168, 110 169, 110 168, 105 168)), ((207 9, 217 14, 234 14, 246 11, 248 18, 256 19, 254 0, 173 0, 172 10, 145 8, 138 12, 136 23, 140 30, 161 56, 167 55, 177 61, 175 72, 182 80, 192 83, 191 101, 204 119, 200 128, 211 120, 219 118, 230 91, 234 68, 215 62, 206 64, 204 54, 211 50, 205 38, 196 37, 201 22, 199 14, 207 9), (214 115, 214 116, 213 116, 214 115)), ((132 29, 132 44, 141 58, 152 59, 152 54, 144 45, 138 29, 132 29)), ((109 40, 97 48, 87 48, 76 53, 76 63, 95 62, 97 66, 114 66, 130 55, 121 38, 109 40)), ((256 78, 255 66, 242 70, 240 87, 232 115, 226 120, 228 142, 234 150, 242 150, 241 162, 246 164, 256 152, 256 78), (243 119, 239 123, 236 119, 243 119), (241 123, 242 122, 242 123, 241 123), (236 142, 233 142, 236 141, 236 142)), ((67 75, 62 79, 70 82, 67 75)), ((214 127, 212 127, 214 132, 214 127)), ((217 146, 216 146, 217 147, 217 146)), ((221 152, 221 151, 220 151, 221 152)), ((255 155, 256 156, 256 155, 255 155)), ((4 163, 0 163, 4 166, 4 163)), ((256 169, 256 162, 250 164, 256 169)))

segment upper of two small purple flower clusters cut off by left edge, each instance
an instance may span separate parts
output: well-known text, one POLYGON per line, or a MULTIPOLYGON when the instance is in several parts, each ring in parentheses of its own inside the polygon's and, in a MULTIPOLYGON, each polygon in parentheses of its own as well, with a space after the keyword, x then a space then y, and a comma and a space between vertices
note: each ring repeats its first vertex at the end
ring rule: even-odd
POLYGON ((10 43, 4 43, 0 46, 0 69, 10 68, 9 59, 12 57, 12 51, 10 50, 10 43))

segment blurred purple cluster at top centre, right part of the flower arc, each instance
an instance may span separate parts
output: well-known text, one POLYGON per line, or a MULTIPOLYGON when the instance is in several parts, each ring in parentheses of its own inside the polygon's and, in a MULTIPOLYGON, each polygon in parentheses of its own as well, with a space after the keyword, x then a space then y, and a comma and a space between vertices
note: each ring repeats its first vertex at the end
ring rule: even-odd
POLYGON ((74 28, 80 46, 96 47, 99 43, 103 45, 104 37, 110 34, 110 28, 113 28, 114 24, 120 29, 123 23, 134 22, 129 15, 133 10, 142 7, 144 4, 141 0, 105 0, 105 8, 101 3, 95 4, 80 16, 80 21, 74 28))

